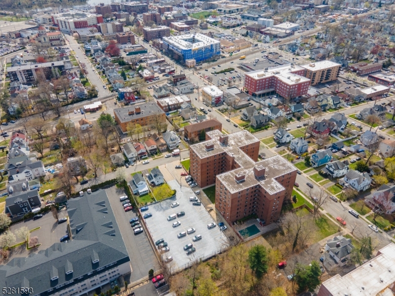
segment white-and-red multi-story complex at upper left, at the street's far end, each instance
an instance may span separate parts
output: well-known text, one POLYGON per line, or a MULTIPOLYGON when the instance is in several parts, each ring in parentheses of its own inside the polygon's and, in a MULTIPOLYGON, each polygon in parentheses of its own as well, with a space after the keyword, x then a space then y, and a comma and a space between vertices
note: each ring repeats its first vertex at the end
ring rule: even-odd
POLYGON ((75 29, 89 28, 103 23, 101 14, 92 14, 71 10, 65 13, 53 14, 52 21, 59 27, 59 31, 65 34, 73 34, 75 29))

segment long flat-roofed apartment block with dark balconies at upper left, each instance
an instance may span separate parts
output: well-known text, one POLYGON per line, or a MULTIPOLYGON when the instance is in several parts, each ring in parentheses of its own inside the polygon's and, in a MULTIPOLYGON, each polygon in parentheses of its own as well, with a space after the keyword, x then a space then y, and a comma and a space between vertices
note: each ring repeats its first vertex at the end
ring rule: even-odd
POLYGON ((60 77, 64 74, 65 64, 63 61, 30 64, 7 68, 7 76, 12 81, 31 84, 37 80, 38 75, 43 74, 46 79, 60 77))

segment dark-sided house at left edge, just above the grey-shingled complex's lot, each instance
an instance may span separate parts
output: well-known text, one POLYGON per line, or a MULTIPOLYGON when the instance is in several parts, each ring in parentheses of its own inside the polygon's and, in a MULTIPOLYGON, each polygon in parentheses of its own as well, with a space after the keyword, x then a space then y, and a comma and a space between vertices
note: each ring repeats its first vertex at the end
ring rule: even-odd
POLYGON ((29 184, 25 179, 22 182, 8 185, 8 196, 5 198, 4 212, 7 216, 15 218, 30 213, 41 207, 40 193, 38 189, 29 189, 29 184), (15 190, 18 184, 24 184, 22 190, 15 190))

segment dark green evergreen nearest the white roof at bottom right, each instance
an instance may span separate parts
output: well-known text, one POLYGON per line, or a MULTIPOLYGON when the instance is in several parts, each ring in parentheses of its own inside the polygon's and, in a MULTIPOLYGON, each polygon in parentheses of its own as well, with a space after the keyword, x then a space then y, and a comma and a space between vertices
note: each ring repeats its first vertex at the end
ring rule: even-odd
POLYGON ((298 293, 308 290, 313 292, 319 285, 321 269, 317 261, 312 261, 310 266, 298 264, 295 268, 295 282, 298 284, 298 293))

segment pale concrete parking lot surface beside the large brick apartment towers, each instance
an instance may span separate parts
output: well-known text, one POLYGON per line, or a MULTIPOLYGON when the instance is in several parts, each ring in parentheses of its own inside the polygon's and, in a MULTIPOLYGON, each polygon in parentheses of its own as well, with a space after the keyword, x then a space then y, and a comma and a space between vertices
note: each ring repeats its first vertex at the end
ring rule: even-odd
POLYGON ((213 219, 204 206, 194 206, 192 202, 189 201, 190 196, 195 196, 192 189, 187 186, 182 186, 180 191, 180 185, 175 180, 168 182, 168 184, 172 189, 177 190, 176 197, 150 205, 148 212, 153 215, 145 221, 154 242, 163 238, 170 248, 169 252, 162 255, 163 258, 172 256, 174 262, 173 266, 175 270, 177 270, 186 268, 192 258, 203 259, 211 257, 227 248, 227 246, 229 246, 229 241, 218 226, 211 229, 207 228, 207 224, 213 222, 213 219), (178 202, 180 205, 171 208, 170 205, 174 202, 178 202), (185 212, 185 216, 167 221, 169 215, 178 212, 185 212), (173 227, 172 224, 176 221, 180 221, 181 225, 173 227), (187 229, 192 227, 196 229, 195 233, 177 238, 180 232, 186 232, 187 229), (193 242, 192 238, 197 234, 200 234, 202 239, 193 242), (184 246, 189 243, 192 243, 196 248, 196 252, 191 255, 187 255, 184 251, 184 246))

